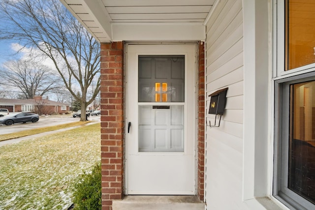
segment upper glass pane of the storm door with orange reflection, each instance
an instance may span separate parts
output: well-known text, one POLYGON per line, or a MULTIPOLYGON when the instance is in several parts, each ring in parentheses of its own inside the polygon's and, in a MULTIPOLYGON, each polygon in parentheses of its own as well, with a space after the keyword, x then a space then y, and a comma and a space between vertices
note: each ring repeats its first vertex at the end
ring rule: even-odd
POLYGON ((139 102, 184 102, 185 56, 139 56, 139 102))

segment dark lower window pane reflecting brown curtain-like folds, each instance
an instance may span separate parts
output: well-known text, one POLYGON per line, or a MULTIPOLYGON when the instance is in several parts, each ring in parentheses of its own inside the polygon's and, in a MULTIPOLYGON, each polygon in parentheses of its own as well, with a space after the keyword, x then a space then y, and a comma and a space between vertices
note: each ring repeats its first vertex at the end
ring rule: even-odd
POLYGON ((315 203, 315 81, 290 86, 288 188, 315 203))

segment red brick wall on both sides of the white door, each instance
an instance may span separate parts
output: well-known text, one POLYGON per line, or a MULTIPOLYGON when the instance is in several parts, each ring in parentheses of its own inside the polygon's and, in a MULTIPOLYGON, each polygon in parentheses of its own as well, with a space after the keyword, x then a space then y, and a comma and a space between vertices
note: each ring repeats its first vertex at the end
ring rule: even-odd
MULTIPOLYGON (((123 42, 101 43, 101 163, 102 210, 123 198, 124 187, 124 69, 123 42)), ((204 43, 199 42, 198 68, 198 183, 204 197, 204 43)))

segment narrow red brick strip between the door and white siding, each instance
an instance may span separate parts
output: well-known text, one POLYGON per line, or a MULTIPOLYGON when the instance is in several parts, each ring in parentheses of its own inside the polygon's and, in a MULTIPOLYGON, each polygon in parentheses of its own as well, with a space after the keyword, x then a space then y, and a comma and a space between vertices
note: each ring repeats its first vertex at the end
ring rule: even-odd
POLYGON ((198 57, 198 183, 197 193, 201 201, 204 198, 204 172, 205 172, 205 48, 204 42, 199 42, 198 57))

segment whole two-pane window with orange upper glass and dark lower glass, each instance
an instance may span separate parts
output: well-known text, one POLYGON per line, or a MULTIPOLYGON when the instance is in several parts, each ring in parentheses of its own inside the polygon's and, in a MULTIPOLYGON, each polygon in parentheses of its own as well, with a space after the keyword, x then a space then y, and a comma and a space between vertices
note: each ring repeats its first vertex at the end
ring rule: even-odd
POLYGON ((273 194, 290 209, 315 209, 315 1, 277 2, 277 72, 286 74, 274 77, 273 194))

